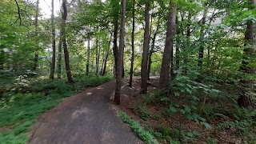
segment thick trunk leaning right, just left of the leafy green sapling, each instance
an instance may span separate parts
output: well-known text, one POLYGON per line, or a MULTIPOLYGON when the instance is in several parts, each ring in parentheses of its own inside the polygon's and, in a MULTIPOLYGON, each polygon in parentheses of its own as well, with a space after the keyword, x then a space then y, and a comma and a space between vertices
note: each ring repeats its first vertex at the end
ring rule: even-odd
POLYGON ((169 82, 169 71, 170 71, 170 61, 173 54, 174 46, 174 27, 176 19, 177 6, 174 2, 170 2, 170 11, 168 14, 167 22, 167 33, 166 33, 166 44, 164 53, 162 56, 162 66, 159 79, 159 89, 164 89, 168 86, 169 82))

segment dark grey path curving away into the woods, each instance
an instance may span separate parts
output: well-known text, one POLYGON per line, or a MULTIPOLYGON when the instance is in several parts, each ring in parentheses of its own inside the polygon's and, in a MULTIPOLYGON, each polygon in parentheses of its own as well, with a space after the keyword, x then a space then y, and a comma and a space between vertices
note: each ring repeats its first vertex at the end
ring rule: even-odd
POLYGON ((38 118, 30 131, 35 144, 143 143, 111 109, 115 82, 67 98, 38 118))

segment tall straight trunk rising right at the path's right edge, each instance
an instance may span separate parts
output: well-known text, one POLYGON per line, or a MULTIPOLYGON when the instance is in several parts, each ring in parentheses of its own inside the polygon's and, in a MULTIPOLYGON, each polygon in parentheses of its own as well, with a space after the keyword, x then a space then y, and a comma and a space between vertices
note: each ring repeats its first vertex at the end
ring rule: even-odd
POLYGON ((126 24, 126 0, 121 2, 121 26, 120 26, 120 39, 119 39, 119 51, 118 51, 118 66, 117 66, 117 77, 116 77, 116 87, 114 94, 114 102, 120 105, 120 94, 121 94, 121 85, 122 85, 122 64, 123 64, 123 50, 125 46, 125 24, 126 24))

